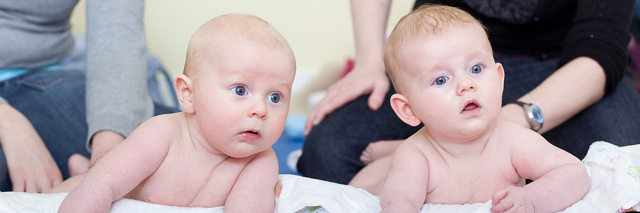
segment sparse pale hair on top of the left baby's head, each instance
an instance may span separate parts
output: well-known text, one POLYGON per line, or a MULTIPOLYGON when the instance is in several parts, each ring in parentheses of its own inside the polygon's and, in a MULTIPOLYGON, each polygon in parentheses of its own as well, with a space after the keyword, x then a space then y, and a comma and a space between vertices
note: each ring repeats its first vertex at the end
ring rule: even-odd
POLYGON ((202 59, 205 50, 212 44, 220 42, 220 35, 223 34, 231 38, 241 36, 267 48, 282 49, 290 56, 294 70, 296 68, 293 50, 275 27, 253 15, 229 13, 212 18, 193 33, 187 47, 184 75, 188 77, 195 75, 197 62, 202 59))

